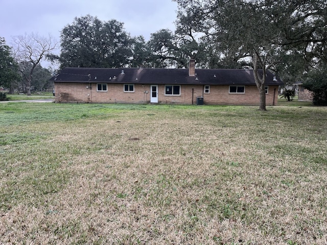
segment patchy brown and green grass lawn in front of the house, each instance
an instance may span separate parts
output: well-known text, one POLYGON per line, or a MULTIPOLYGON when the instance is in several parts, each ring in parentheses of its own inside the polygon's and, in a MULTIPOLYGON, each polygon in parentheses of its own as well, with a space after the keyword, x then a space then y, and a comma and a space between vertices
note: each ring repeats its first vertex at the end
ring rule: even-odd
POLYGON ((326 244, 327 107, 286 105, 0 104, 0 244, 326 244))

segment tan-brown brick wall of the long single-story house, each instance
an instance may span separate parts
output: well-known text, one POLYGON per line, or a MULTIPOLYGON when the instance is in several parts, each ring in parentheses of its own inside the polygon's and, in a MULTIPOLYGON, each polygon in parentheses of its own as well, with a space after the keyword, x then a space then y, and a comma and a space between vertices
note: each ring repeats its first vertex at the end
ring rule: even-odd
MULTIPOLYGON (((203 85, 181 85, 180 95, 165 95, 165 85, 158 85, 158 103, 197 103, 203 96, 205 105, 259 105, 259 91, 256 86, 245 86, 244 94, 229 93, 228 85, 210 85, 209 93, 204 93, 203 85)), ((134 92, 124 92, 124 84, 107 84, 108 91, 97 91, 96 83, 55 82, 56 102, 84 103, 150 103, 150 85, 134 84, 134 92)), ((267 105, 277 105, 278 86, 269 86, 266 94, 267 105)))

